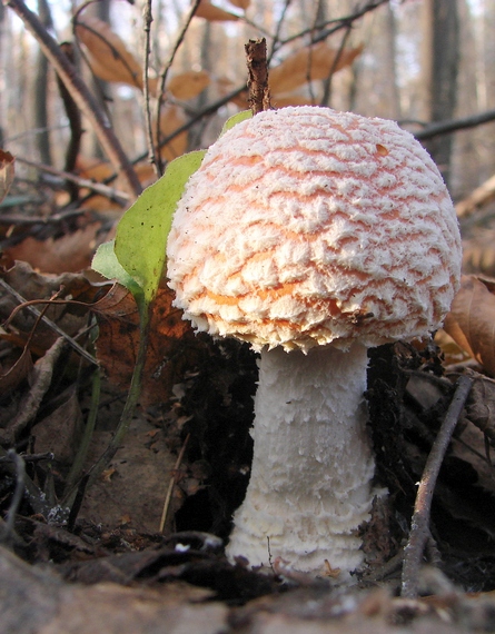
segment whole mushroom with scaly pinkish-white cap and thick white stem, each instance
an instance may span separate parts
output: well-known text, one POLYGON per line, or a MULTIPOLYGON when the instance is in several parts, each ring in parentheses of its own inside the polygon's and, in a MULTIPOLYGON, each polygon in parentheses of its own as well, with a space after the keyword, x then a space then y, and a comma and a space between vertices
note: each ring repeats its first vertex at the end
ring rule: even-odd
POLYGON ((459 275, 447 189, 395 122, 285 108, 209 148, 174 218, 168 276, 198 330, 261 353, 231 559, 359 568, 374 475, 367 348, 436 329, 459 275))

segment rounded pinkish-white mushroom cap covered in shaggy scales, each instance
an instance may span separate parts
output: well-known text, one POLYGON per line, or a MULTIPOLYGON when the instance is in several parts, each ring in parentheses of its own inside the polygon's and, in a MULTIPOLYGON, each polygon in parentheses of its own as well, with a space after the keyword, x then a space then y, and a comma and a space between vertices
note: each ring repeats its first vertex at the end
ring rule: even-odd
POLYGON ((209 148, 167 256, 185 318, 255 349, 423 337, 461 277, 455 210, 420 143, 309 106, 261 112, 209 148))

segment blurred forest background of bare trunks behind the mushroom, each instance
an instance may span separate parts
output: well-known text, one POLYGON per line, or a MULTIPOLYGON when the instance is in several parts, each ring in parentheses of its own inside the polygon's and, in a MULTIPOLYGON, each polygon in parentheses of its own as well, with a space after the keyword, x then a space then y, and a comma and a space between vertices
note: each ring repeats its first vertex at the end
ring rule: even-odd
MULTIPOLYGON (((7 0, 0 8, 0 147, 17 159, 18 187, 24 181, 18 194, 28 194, 33 204, 44 196, 50 215, 53 205, 79 205, 73 184, 70 197, 63 197, 62 172, 112 182, 115 166, 91 123, 71 118, 56 72, 18 17, 19 6, 7 0), (29 184, 40 179, 59 188, 55 201, 46 190, 30 190, 29 184)), ((486 202, 495 189, 489 181, 495 174, 495 4, 489 0, 201 0, 192 7, 186 0, 32 0, 28 6, 48 33, 66 42, 63 50, 111 121, 141 186, 159 172, 150 165, 148 139, 157 133, 162 145, 170 139, 162 158, 155 157, 166 161, 208 146, 228 116, 247 108, 245 43, 265 37, 275 107, 319 103, 399 121, 432 152, 456 202, 485 184, 483 218, 478 212, 474 221, 469 215, 479 200, 458 208, 461 216, 469 215, 463 220, 465 237, 474 226, 486 230, 489 224, 486 202), (461 120, 454 128, 469 127, 430 136, 432 125, 452 120, 461 120)), ((122 199, 116 205, 95 197, 85 205, 117 212, 126 207, 122 199)), ((494 273, 491 266, 485 273, 494 273)))

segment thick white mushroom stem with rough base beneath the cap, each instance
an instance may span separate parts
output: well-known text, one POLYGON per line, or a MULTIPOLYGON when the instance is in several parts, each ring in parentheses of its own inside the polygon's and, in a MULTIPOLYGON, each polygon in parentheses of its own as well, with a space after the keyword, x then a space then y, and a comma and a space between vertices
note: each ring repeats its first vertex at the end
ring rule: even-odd
POLYGON ((246 498, 227 546, 251 566, 281 557, 319 574, 363 564, 359 525, 369 517, 374 460, 366 433, 366 348, 307 355, 264 350, 255 398, 255 454, 246 498))

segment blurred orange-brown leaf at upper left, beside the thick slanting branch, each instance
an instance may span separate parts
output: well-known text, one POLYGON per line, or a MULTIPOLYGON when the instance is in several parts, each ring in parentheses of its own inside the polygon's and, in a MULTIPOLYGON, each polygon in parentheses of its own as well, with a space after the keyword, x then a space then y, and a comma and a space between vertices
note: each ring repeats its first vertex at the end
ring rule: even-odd
POLYGON ((142 89, 142 69, 120 37, 107 22, 85 16, 76 34, 88 51, 92 72, 105 81, 118 81, 142 89))

